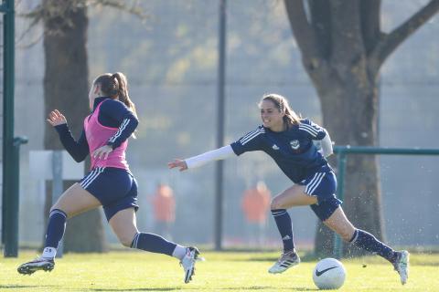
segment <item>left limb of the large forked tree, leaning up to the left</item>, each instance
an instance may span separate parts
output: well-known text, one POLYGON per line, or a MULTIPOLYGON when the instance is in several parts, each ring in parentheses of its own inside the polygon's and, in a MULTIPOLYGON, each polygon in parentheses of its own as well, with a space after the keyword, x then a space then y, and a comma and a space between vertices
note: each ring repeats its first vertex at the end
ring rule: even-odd
POLYGON ((306 68, 318 67, 322 54, 318 48, 316 32, 306 19, 304 2, 302 0, 284 0, 284 5, 295 42, 302 52, 306 68))

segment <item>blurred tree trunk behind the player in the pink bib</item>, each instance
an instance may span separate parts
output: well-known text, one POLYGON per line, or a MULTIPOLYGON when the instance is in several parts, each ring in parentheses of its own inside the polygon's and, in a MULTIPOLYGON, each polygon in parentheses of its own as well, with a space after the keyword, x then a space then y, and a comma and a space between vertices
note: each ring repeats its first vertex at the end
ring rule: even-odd
MULTIPOLYGON (((65 10, 64 2, 53 0, 44 0, 43 5, 47 11, 44 18, 45 113, 48 115, 55 109, 63 112, 69 121, 70 130, 78 138, 83 119, 90 112, 86 51, 87 9, 80 6, 65 10)), ((45 129, 44 146, 48 150, 63 149, 56 130, 48 124, 45 129)), ((71 183, 74 182, 70 182, 69 185, 71 183)), ((52 201, 51 195, 48 195, 47 199, 52 201)), ((94 210, 69 221, 65 239, 66 251, 104 251, 101 212, 94 210)))

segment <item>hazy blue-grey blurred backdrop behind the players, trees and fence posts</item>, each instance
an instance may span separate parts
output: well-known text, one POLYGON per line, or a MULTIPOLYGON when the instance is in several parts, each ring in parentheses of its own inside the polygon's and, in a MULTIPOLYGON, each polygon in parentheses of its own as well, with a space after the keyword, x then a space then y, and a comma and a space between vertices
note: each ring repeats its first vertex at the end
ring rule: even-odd
MULTIPOLYGON (((26 18, 19 17, 20 11, 28 11, 38 2, 22 0, 17 5, 17 36, 29 26, 26 18)), ((426 2, 383 1, 383 30, 391 31, 426 2)), ((127 152, 139 183, 139 229, 155 230, 153 197, 157 185, 164 183, 175 198, 175 219, 168 227, 172 239, 213 245, 214 163, 188 172, 170 171, 166 163, 216 147, 219 2, 148 0, 140 5, 145 9, 145 20, 110 7, 89 8, 90 82, 103 72, 121 71, 128 78, 140 119, 137 139, 130 141, 127 152)), ((302 66, 284 3, 229 1, 227 17, 226 142, 238 140, 260 124, 257 103, 268 92, 284 95, 295 111, 321 123, 316 90, 302 66)), ((16 43, 15 132, 29 139, 21 148, 21 245, 39 245, 45 230, 44 190, 29 172, 29 151, 43 149, 46 120, 40 26, 34 26, 16 43)), ((381 147, 439 145, 438 32, 436 16, 408 38, 381 68, 381 147)), ((435 186, 439 158, 378 157, 387 242, 437 248, 439 196, 435 186)), ((262 233, 260 237, 249 235, 254 228, 242 211, 242 199, 245 191, 260 181, 272 195, 291 182, 268 156, 256 153, 231 158, 224 167, 224 246, 280 248, 271 216, 256 231, 262 233)), ((294 208, 290 214, 296 245, 299 249, 312 247, 316 215, 309 207, 294 208)), ((107 224, 104 228, 108 242, 117 243, 107 224)))

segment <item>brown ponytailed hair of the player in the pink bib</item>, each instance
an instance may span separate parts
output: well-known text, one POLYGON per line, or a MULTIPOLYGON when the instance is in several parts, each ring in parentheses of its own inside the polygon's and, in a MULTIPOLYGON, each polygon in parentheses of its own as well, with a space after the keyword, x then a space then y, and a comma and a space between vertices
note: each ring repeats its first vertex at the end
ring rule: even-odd
POLYGON ((101 92, 104 96, 108 96, 111 99, 119 98, 128 109, 133 111, 134 116, 137 117, 134 102, 131 101, 128 95, 128 81, 123 73, 104 73, 96 78, 93 84, 99 84, 101 86, 101 92))

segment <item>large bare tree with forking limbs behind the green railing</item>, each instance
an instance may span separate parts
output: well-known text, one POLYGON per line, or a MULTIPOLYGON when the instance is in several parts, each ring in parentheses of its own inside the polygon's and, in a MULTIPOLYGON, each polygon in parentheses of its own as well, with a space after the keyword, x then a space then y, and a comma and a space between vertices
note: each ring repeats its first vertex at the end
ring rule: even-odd
MULTIPOLYGON (((380 67, 439 9, 439 0, 431 0, 386 34, 380 27, 380 4, 380 0, 284 0, 303 65, 320 99, 324 125, 337 144, 377 146, 380 67)), ((347 170, 348 218, 383 239, 376 157, 350 156, 347 170)), ((317 254, 332 250, 331 236, 323 224, 318 225, 317 254)))

